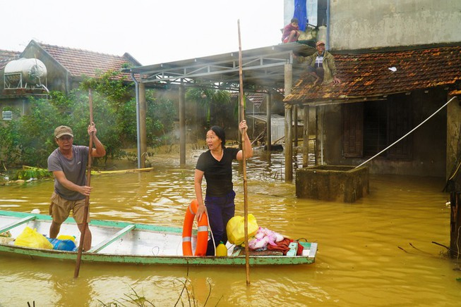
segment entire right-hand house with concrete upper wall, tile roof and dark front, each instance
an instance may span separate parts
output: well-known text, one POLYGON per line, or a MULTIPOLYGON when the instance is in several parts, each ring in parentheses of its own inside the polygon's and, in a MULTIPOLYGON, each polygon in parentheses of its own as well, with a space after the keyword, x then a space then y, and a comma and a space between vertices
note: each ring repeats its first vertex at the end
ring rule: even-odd
MULTIPOLYGON (((305 74, 285 91, 285 123, 297 120, 298 109, 304 126, 315 126, 316 165, 366 163, 371 173, 448 177, 461 160, 460 99, 452 100, 461 89, 461 3, 306 3, 319 12, 325 4, 318 39, 342 80, 313 86, 305 74)), ((292 4, 285 0, 285 9, 292 4)), ((286 165, 290 159, 288 151, 286 165)))

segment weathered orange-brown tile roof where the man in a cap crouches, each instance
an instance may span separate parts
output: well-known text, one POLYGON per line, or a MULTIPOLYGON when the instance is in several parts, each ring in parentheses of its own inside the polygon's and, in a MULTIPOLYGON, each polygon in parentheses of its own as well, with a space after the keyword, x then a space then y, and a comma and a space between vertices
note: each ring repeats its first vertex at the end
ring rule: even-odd
POLYGON ((461 46, 334 56, 340 84, 313 85, 304 73, 284 101, 344 101, 451 85, 461 80, 461 46))

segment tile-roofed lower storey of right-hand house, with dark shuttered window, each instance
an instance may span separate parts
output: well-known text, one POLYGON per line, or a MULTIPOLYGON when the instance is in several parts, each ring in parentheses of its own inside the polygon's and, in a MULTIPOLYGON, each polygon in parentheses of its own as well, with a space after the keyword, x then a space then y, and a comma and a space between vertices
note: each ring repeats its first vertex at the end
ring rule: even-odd
POLYGON ((335 62, 340 84, 305 75, 284 100, 316 112, 318 164, 360 165, 379 153, 371 173, 445 177, 460 132, 459 102, 445 104, 461 87, 461 46, 345 52, 335 62))

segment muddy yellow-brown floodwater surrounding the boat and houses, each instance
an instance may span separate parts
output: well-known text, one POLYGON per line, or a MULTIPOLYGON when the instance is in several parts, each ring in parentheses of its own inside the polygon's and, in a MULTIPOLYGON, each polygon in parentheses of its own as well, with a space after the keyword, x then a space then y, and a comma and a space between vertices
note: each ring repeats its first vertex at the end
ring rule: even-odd
MULTIPOLYGON (((182 227, 198 153, 182 168, 154 156, 150 173, 92 176, 91 217, 182 227)), ((0 306, 136 306, 128 301, 138 297, 155 306, 460 306, 460 265, 432 243, 450 244, 444 178, 371 175, 368 196, 336 203, 297 199, 284 176, 283 153, 256 151, 249 212, 262 227, 318 242, 312 265, 251 267, 247 286, 244 267, 83 263, 74 279, 75 263, 0 255, 0 306)), ((234 188, 243 215, 239 163, 234 188)), ((52 189, 52 180, 6 184, 0 209, 47 213, 52 189)))

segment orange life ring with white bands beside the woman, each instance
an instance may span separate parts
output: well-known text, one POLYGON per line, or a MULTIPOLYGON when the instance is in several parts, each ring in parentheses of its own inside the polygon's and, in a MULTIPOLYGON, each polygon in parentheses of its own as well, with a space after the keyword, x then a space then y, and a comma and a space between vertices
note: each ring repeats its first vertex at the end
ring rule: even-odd
POLYGON ((208 217, 203 213, 197 228, 196 252, 192 253, 192 225, 196 218, 198 201, 194 199, 187 207, 184 225, 182 228, 182 254, 184 256, 205 256, 208 245, 208 217))

